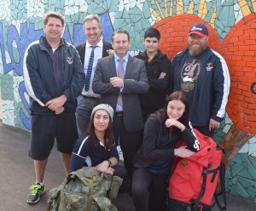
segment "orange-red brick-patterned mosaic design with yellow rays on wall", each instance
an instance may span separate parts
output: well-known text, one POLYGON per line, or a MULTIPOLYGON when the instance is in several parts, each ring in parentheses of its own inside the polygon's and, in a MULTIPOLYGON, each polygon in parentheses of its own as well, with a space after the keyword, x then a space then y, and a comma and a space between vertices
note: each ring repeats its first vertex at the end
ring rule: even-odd
POLYGON ((156 0, 158 11, 153 8, 150 11, 158 20, 153 27, 161 31, 161 50, 169 58, 186 47, 189 27, 201 22, 209 30, 209 46, 222 54, 229 66, 231 86, 226 110, 233 125, 220 143, 226 151, 227 167, 232 157, 256 134, 256 1, 252 1, 252 9, 247 1, 238 1, 243 19, 228 31, 223 42, 214 30, 216 7, 211 20, 208 23, 204 20, 208 13, 206 0, 200 1, 196 15, 195 3, 191 0, 186 14, 182 0, 177 0, 176 5, 171 1, 169 8, 166 0, 163 3, 165 6, 161 9, 160 1, 156 0), (177 15, 172 16, 174 6, 177 15))

